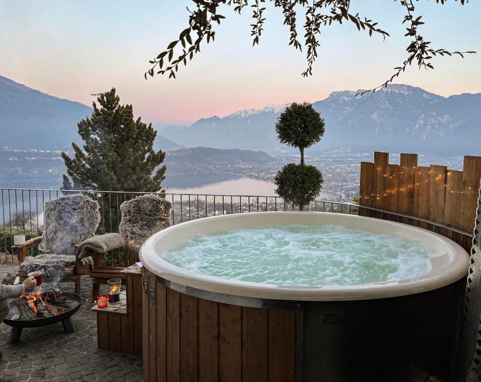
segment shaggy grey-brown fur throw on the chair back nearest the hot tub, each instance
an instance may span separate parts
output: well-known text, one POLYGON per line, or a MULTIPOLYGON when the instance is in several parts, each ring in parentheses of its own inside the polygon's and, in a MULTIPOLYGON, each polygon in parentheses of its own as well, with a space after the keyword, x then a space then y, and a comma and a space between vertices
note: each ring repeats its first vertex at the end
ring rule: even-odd
POLYGON ((120 234, 125 245, 138 252, 151 235, 170 226, 172 203, 158 194, 146 194, 120 204, 120 234))

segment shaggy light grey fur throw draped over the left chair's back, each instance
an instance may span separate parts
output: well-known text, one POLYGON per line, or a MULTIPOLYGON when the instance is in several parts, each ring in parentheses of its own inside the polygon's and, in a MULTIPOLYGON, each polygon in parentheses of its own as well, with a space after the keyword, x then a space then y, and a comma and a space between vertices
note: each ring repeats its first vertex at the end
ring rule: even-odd
POLYGON ((75 255, 74 245, 95 234, 100 223, 99 209, 96 200, 81 194, 64 195, 46 201, 44 232, 38 246, 40 251, 75 255))

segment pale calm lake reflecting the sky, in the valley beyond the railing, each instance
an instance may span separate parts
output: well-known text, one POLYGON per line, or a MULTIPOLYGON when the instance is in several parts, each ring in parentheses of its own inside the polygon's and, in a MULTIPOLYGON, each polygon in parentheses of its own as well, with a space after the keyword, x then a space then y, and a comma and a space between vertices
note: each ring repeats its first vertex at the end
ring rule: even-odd
MULTIPOLYGON (((193 195, 246 195, 246 196, 276 196, 275 185, 270 182, 260 181, 249 178, 234 178, 230 176, 230 179, 217 180, 217 182, 207 183, 210 175, 201 175, 199 179, 193 177, 190 182, 184 177, 180 177, 179 182, 176 182, 177 177, 171 177, 167 183, 167 178, 162 184, 165 187, 167 193, 189 193, 193 195), (193 185, 193 182, 200 183, 199 185, 193 185), (188 184, 191 186, 187 186, 188 184), (203 184, 202 184, 203 183, 203 184)), ((214 180, 218 177, 211 178, 214 180)), ((321 199, 334 200, 337 199, 339 194, 333 191, 321 191, 321 199)))

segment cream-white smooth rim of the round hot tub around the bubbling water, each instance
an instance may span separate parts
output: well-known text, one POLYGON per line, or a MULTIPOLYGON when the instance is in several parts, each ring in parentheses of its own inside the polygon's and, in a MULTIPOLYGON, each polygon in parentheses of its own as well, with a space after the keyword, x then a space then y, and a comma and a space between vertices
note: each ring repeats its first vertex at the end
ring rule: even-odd
POLYGON ((469 262, 468 253, 460 245, 418 227, 357 215, 298 211, 238 213, 176 224, 148 238, 141 246, 139 256, 152 274, 178 285, 233 296, 305 301, 363 300, 425 292, 465 277, 469 262), (407 237, 420 241, 438 256, 430 259, 430 272, 415 279, 354 286, 279 286, 228 280, 187 271, 162 258, 164 252, 198 234, 273 224, 339 224, 350 229, 407 237))

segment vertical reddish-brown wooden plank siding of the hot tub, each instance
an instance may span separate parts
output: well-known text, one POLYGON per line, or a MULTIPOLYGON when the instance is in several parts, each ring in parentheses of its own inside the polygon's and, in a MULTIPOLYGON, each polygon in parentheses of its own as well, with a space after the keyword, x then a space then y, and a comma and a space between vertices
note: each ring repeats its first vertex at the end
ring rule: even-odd
POLYGON ((293 310, 205 300, 144 277, 154 292, 143 301, 144 381, 294 382, 293 310))

